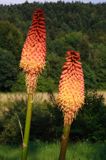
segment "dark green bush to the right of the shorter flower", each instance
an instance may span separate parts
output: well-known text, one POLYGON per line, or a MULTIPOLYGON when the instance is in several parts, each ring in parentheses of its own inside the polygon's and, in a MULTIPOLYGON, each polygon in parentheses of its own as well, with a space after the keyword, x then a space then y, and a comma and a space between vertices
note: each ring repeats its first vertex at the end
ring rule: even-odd
POLYGON ((103 96, 94 93, 86 95, 85 104, 72 125, 75 140, 86 139, 93 142, 106 140, 106 108, 103 96))

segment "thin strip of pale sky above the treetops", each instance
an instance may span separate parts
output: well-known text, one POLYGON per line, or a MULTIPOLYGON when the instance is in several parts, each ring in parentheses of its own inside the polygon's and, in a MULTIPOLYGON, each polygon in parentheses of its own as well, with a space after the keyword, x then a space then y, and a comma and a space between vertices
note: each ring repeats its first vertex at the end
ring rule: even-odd
MULTIPOLYGON (((26 0, 0 0, 0 4, 19 4, 19 3, 24 3, 26 0)), ((57 2, 58 0, 27 0, 29 3, 31 2, 57 2)), ((72 0, 62 0, 64 2, 72 2, 72 0)), ((92 3, 102 3, 102 2, 106 2, 106 0, 73 0, 73 2, 75 1, 81 1, 84 3, 87 2, 92 2, 92 3)))

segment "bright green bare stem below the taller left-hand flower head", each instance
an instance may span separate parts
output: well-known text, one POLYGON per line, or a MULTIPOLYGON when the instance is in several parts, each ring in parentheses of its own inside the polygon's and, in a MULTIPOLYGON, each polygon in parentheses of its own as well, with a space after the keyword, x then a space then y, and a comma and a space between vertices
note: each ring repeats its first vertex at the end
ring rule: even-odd
POLYGON ((32 103, 33 103, 33 95, 28 94, 28 104, 27 104, 27 113, 26 113, 26 122, 25 122, 25 131, 24 131, 24 140, 23 140, 21 160, 27 160, 28 142, 29 142, 31 117, 32 117, 32 103))

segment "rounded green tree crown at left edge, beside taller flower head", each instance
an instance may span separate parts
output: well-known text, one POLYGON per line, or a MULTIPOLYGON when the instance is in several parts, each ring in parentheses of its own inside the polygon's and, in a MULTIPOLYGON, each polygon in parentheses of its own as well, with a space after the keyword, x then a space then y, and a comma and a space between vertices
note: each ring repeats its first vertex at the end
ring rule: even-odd
POLYGON ((0 47, 11 51, 19 60, 23 42, 22 33, 9 21, 0 21, 0 47))

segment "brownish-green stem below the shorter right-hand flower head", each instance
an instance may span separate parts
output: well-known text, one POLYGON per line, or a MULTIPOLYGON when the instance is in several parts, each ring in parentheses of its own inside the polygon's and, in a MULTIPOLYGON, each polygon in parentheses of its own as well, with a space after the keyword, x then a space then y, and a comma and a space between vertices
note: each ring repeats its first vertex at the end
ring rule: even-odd
POLYGON ((70 124, 67 124, 67 125, 64 126, 64 129, 63 129, 59 160, 65 160, 65 155, 66 155, 67 145, 68 145, 68 139, 69 139, 69 134, 70 134, 70 126, 71 126, 70 124))

